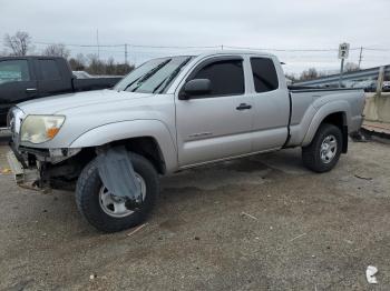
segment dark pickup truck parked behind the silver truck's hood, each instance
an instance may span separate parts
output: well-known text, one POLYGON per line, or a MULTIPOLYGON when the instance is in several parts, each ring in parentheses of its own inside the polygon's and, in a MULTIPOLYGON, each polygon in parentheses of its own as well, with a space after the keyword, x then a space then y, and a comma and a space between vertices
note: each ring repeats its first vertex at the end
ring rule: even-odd
POLYGON ((16 103, 78 91, 114 87, 121 78, 75 78, 64 58, 0 58, 0 128, 7 124, 7 113, 16 103))

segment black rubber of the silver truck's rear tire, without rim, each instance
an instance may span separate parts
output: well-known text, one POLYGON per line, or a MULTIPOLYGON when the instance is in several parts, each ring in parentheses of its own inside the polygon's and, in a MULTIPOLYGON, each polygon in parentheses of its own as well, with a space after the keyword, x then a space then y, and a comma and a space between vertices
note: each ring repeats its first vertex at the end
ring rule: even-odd
POLYGON ((318 173, 328 172, 332 170, 334 165, 338 163, 341 151, 342 151, 341 130, 333 124, 323 123, 318 129, 313 141, 308 147, 302 148, 303 164, 308 169, 318 173), (337 142, 337 149, 334 151, 334 157, 331 160, 325 162, 323 159, 321 159, 321 146, 322 146, 322 142, 328 137, 334 137, 337 142))

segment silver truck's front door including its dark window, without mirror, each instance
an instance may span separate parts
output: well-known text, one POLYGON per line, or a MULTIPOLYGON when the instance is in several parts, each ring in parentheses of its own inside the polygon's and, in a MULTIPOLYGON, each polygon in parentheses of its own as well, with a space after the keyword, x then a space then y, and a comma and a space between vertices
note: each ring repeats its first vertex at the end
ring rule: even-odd
POLYGON ((240 56, 213 57, 189 73, 186 82, 208 79, 212 90, 175 99, 181 168, 251 152, 253 110, 244 67, 240 56))

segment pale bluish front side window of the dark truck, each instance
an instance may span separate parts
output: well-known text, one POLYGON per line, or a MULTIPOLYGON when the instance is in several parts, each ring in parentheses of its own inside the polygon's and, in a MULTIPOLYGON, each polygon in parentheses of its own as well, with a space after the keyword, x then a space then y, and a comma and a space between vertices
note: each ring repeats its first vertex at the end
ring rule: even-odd
POLYGON ((30 81, 27 60, 0 61, 0 84, 30 81))

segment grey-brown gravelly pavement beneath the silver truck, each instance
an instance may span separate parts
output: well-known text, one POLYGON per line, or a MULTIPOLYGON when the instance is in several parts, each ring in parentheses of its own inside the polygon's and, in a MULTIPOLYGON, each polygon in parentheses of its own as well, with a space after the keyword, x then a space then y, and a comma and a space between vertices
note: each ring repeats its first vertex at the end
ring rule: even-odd
POLYGON ((131 235, 0 174, 0 290, 390 290, 389 149, 351 142, 324 174, 286 150, 164 178, 131 235))

